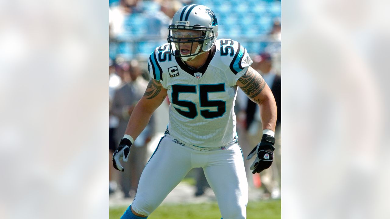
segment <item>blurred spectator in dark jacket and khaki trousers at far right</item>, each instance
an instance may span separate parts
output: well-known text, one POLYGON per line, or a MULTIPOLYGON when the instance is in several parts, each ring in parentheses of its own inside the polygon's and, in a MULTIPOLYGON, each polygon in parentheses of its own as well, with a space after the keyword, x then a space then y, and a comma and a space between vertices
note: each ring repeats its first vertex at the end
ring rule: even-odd
MULTIPOLYGON (((274 162, 271 168, 261 172, 261 183, 264 186, 266 194, 271 198, 280 198, 281 185, 281 139, 280 139, 280 124, 281 124, 281 85, 282 79, 277 74, 272 65, 272 57, 269 53, 261 53, 253 58, 254 63, 251 65, 258 71, 268 87, 271 89, 277 105, 277 123, 275 129, 275 151, 274 162)), ((251 145, 256 145, 258 136, 262 134, 260 109, 252 101, 248 101, 246 108, 246 129, 248 130, 249 142, 251 145)))

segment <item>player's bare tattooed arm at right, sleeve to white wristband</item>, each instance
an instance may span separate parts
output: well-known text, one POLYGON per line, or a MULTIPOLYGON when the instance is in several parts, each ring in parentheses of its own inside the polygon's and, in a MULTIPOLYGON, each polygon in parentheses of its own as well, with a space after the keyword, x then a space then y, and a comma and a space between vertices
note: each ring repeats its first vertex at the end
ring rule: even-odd
POLYGON ((252 67, 237 81, 238 87, 260 107, 262 128, 275 131, 277 109, 275 99, 262 76, 252 67))

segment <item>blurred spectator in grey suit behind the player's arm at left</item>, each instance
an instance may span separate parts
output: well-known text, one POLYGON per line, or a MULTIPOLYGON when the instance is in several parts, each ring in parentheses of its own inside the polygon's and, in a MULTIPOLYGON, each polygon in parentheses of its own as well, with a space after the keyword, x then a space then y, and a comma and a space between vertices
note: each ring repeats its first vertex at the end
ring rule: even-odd
MULTIPOLYGON (((123 137, 130 115, 148 84, 144 78, 139 77, 142 72, 136 60, 130 62, 128 72, 130 81, 116 90, 112 102, 113 115, 119 117, 119 124, 115 132, 117 142, 123 137)), ((123 164, 125 171, 121 174, 120 184, 126 198, 137 193, 138 181, 147 162, 147 143, 151 140, 154 132, 155 122, 154 116, 152 116, 147 127, 134 141, 133 147, 130 149, 129 161, 123 164)))

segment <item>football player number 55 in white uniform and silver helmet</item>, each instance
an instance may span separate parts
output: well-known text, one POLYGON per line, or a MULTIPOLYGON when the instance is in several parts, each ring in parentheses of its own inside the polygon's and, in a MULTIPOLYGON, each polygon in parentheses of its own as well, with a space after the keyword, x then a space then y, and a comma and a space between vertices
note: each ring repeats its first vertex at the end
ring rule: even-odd
POLYGON ((114 152, 114 167, 124 171, 121 159, 127 161, 134 140, 167 95, 169 123, 145 166, 133 203, 121 218, 146 218, 188 171, 201 167, 223 219, 245 219, 248 183, 233 111, 237 87, 261 109, 263 135, 246 157, 255 157, 253 173, 269 168, 273 161, 275 99, 250 67, 246 49, 232 39, 217 40, 218 21, 211 9, 186 5, 175 13, 168 30, 168 43, 149 57, 152 78, 114 152))

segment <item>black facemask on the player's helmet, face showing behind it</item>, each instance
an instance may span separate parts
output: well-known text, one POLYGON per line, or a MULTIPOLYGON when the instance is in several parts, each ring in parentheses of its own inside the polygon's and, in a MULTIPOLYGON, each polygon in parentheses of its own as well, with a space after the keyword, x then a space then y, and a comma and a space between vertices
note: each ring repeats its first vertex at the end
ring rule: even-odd
POLYGON ((186 25, 169 25, 168 30, 170 52, 175 57, 181 57, 183 61, 191 61, 197 55, 209 51, 210 44, 216 37, 213 28, 189 26, 188 22, 186 25), (193 51, 194 49, 195 51, 193 51))

